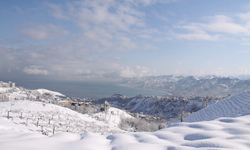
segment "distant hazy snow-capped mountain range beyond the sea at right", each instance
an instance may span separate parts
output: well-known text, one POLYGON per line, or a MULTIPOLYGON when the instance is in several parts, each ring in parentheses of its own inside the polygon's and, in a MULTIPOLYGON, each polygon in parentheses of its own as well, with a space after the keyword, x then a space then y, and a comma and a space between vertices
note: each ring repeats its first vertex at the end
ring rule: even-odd
POLYGON ((250 89, 248 76, 146 76, 123 79, 124 86, 165 92, 168 96, 228 96, 250 89))

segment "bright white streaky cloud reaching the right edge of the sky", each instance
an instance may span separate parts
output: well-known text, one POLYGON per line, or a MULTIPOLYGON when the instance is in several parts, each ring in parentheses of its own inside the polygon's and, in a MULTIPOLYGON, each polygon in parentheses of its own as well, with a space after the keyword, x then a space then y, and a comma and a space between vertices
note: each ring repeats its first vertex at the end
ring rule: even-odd
MULTIPOLYGON (((242 17, 241 17, 242 18, 242 17)), ((182 29, 182 32, 172 32, 172 36, 177 39, 186 40, 208 40, 218 41, 232 36, 249 36, 250 22, 234 22, 234 19, 225 15, 215 15, 203 17, 205 23, 186 23, 175 25, 174 28, 182 29)), ((237 20, 237 19, 235 19, 237 20)))

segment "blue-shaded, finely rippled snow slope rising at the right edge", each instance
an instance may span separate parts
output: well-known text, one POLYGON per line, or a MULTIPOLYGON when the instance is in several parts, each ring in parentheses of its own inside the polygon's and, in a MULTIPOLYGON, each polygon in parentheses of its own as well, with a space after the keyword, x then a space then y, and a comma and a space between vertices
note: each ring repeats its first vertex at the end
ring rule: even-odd
POLYGON ((250 115, 250 90, 231 96, 186 117, 184 121, 209 121, 220 117, 250 115))

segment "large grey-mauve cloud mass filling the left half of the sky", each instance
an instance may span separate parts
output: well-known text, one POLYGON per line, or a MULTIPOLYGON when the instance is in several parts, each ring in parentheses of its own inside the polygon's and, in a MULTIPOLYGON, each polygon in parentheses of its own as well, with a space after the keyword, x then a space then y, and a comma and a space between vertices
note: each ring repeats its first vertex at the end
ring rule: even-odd
MULTIPOLYGON (((9 69, 20 78, 30 74, 29 77, 34 78, 47 75, 46 78, 69 80, 115 80, 149 75, 150 70, 146 67, 127 66, 122 58, 108 56, 110 52, 139 49, 140 45, 135 41, 137 35, 150 38, 161 33, 146 26, 146 14, 139 9, 142 5, 147 7, 158 2, 170 1, 47 2, 49 13, 57 25, 26 22, 25 27, 19 30, 24 40, 19 41, 22 46, 0 45, 0 72, 5 73, 9 69), (65 26, 60 23, 65 23, 65 26), (66 25, 75 25, 74 32, 70 33, 72 30, 66 25)), ((156 49, 149 43, 141 45, 142 49, 156 49)))

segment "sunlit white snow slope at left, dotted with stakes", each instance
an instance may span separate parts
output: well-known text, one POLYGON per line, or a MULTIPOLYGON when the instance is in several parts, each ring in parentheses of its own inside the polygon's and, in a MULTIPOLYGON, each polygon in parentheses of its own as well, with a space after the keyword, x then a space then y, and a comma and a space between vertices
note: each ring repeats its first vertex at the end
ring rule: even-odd
POLYGON ((52 135, 54 127, 55 132, 83 133, 89 131, 99 134, 124 132, 102 121, 97 121, 87 114, 83 115, 54 104, 15 100, 1 102, 0 110, 0 117, 7 118, 9 113, 9 119, 14 124, 25 126, 34 132, 44 130, 48 135, 52 135))

